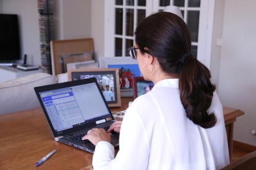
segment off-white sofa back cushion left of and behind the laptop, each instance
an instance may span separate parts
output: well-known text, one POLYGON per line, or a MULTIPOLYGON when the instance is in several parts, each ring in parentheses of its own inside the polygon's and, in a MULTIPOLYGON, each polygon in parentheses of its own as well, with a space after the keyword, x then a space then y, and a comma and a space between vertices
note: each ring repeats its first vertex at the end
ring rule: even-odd
POLYGON ((0 114, 40 107, 34 87, 55 83, 57 79, 47 73, 35 73, 0 83, 0 114))

